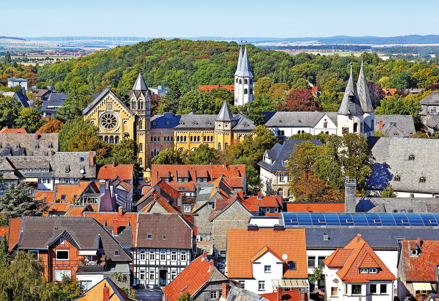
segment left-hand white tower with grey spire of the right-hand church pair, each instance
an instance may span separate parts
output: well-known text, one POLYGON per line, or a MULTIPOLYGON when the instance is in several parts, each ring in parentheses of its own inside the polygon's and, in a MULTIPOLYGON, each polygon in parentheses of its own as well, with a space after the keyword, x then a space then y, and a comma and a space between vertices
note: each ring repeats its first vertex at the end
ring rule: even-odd
MULTIPOLYGON (((350 75, 347 81, 345 95, 337 112, 337 135, 348 133, 364 134, 363 122, 364 111, 361 108, 357 87, 352 76, 352 63, 350 63, 350 75)), ((366 136, 366 135, 365 135, 366 136)))

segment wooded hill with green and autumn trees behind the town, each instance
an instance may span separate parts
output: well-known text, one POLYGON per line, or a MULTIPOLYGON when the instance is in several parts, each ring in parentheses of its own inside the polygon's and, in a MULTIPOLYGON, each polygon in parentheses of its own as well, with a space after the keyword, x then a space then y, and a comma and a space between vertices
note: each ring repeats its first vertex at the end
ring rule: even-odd
MULTIPOLYGON (((285 53, 248 45, 255 81, 273 75, 293 59, 285 53)), ((238 63, 236 42, 154 39, 135 45, 97 51, 86 57, 41 67, 38 76, 57 91, 85 89, 99 92, 111 85, 130 88, 142 72, 148 86, 179 85, 182 92, 196 85, 230 85, 238 63)))

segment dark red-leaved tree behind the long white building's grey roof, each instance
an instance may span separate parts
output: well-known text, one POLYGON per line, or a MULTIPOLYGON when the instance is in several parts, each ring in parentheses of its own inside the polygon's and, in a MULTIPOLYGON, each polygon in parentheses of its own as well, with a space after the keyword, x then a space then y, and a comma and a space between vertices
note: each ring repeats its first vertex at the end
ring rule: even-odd
POLYGON ((311 90, 292 90, 275 109, 278 112, 321 111, 320 104, 314 100, 311 90))

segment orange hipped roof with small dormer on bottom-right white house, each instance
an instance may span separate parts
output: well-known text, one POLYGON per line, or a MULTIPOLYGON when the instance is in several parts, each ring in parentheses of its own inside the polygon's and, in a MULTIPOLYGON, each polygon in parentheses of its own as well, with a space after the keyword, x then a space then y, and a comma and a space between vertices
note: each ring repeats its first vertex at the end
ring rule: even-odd
POLYGON ((370 280, 395 280, 395 275, 389 271, 386 265, 379 259, 378 255, 369 244, 357 235, 343 249, 334 251, 323 263, 328 267, 337 267, 345 259, 343 266, 337 271, 337 275, 344 282, 369 282, 370 280), (337 253, 336 253, 337 252, 337 253), (334 254, 336 253, 336 254, 334 254), (346 257, 346 255, 348 256, 346 257), (332 263, 337 260, 338 263, 332 263), (360 273, 360 268, 377 268, 377 273, 360 273))

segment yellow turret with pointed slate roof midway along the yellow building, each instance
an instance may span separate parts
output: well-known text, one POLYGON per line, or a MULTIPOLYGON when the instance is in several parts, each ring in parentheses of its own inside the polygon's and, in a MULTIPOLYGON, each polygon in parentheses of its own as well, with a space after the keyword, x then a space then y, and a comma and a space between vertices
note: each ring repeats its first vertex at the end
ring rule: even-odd
POLYGON ((215 148, 218 150, 226 149, 232 142, 233 131, 236 120, 230 112, 227 101, 224 100, 220 113, 215 119, 215 148))

